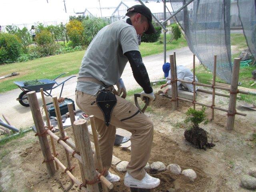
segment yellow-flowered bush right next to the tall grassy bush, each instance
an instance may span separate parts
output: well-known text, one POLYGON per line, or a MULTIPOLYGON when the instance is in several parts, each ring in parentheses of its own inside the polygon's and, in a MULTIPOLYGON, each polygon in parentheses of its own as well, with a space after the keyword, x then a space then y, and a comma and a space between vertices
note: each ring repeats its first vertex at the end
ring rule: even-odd
POLYGON ((69 39, 72 41, 72 47, 82 45, 82 33, 84 30, 82 22, 78 20, 71 20, 66 24, 66 30, 69 39))

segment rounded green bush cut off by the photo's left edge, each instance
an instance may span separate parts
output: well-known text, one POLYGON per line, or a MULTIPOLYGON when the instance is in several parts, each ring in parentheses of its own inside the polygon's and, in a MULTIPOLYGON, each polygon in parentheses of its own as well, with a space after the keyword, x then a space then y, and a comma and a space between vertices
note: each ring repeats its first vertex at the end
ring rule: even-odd
POLYGON ((22 45, 16 35, 0 33, 0 63, 17 60, 22 53, 22 45))

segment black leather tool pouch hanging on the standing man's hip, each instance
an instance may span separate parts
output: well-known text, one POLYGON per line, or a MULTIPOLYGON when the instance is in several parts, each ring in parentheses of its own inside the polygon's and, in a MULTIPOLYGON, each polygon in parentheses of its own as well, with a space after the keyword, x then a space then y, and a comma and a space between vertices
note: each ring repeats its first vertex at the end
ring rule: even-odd
POLYGON ((96 103, 103 113, 106 126, 110 124, 111 113, 114 106, 116 106, 116 102, 117 99, 112 90, 103 89, 97 94, 96 103))

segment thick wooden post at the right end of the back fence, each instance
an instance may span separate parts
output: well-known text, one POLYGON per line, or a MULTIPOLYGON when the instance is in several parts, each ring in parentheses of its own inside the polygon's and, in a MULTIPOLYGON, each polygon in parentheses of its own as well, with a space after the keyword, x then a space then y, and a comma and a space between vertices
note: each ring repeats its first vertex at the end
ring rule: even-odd
POLYGON ((227 130, 232 130, 234 128, 235 114, 236 114, 236 95, 238 87, 239 78, 239 68, 240 68, 240 58, 234 58, 234 66, 232 70, 232 80, 230 85, 230 97, 228 106, 228 120, 227 120, 227 130))

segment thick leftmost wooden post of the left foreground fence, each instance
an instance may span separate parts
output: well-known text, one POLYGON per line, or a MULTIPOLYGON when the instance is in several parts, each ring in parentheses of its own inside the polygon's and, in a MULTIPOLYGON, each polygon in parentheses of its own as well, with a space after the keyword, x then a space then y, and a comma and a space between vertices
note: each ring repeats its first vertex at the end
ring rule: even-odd
MULTIPOLYGON (((29 102, 31 113, 32 113, 32 117, 36 126, 36 132, 38 134, 42 134, 45 132, 45 128, 44 128, 44 121, 41 115, 38 100, 36 97, 36 92, 30 91, 27 93, 27 96, 28 96, 28 102, 29 102)), ((46 164, 48 176, 52 177, 55 173, 55 167, 52 159, 50 146, 47 140, 47 136, 46 134, 42 134, 41 136, 38 136, 38 139, 39 139, 42 153, 44 156, 44 162, 46 164)))

